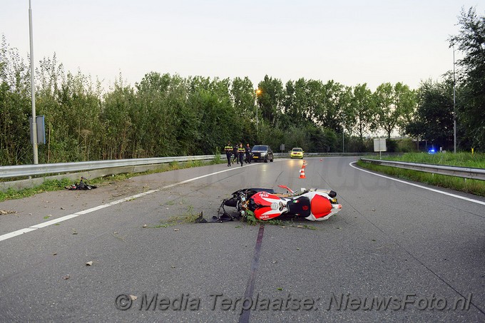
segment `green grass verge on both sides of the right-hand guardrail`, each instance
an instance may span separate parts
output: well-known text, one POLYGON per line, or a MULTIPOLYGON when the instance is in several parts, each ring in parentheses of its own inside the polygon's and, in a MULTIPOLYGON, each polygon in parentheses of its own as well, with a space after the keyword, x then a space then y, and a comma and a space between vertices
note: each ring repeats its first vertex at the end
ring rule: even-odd
MULTIPOLYGON (((386 157, 385 159, 404 161, 408 163, 485 168, 485 154, 471 155, 471 153, 456 153, 455 155, 453 153, 437 153, 434 155, 429 155, 427 153, 409 153, 402 156, 386 157)), ((361 160, 357 162, 357 165, 368 170, 385 173, 397 178, 414 180, 416 182, 427 183, 429 185, 434 185, 441 188, 450 188, 452 190, 459 190, 464 193, 485 196, 485 181, 483 180, 470 180, 448 175, 424 173, 417 170, 405 170, 390 166, 374 165, 364 163, 361 160)))

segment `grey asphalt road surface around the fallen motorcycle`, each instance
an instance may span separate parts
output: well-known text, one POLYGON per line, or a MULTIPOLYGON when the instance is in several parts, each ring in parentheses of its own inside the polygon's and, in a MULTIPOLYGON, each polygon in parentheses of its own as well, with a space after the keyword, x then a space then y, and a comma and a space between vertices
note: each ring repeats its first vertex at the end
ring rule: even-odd
POLYGON ((485 321, 484 198, 356 158, 306 160, 306 178, 302 160, 283 159, 1 202, 0 321, 485 321), (184 220, 280 184, 331 188, 342 210, 322 222, 184 220))

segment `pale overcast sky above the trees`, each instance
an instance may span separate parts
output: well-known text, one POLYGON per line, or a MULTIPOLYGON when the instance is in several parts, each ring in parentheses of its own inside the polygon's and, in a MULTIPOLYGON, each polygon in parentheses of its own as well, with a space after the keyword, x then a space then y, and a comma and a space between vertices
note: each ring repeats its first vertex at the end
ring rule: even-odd
MULTIPOLYGON (((182 77, 267 74, 347 86, 418 88, 453 68, 450 35, 466 0, 31 0, 36 65, 56 53, 66 71, 107 88, 150 71, 182 77)), ((29 54, 29 1, 0 0, 0 34, 29 54)), ((456 58, 459 58, 456 52, 456 58)))

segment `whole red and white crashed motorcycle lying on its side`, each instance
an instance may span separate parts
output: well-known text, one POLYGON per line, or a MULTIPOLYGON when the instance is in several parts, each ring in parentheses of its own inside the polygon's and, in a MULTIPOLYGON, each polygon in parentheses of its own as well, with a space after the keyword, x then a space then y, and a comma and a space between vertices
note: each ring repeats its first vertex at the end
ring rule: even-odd
MULTIPOLYGON (((286 193, 276 193, 266 188, 245 188, 233 193, 233 197, 223 200, 218 210, 218 218, 233 217, 225 207, 235 207, 240 217, 254 215, 257 220, 270 220, 282 215, 305 217, 310 221, 327 220, 342 209, 333 190, 310 188, 294 192, 285 185, 286 193)), ((232 220, 232 219, 230 219, 232 220)))

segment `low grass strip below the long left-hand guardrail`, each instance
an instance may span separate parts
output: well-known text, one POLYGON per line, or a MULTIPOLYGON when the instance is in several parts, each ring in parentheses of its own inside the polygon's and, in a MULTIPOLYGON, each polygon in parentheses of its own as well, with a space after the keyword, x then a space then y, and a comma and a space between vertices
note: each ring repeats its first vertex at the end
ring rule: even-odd
MULTIPOLYGON (((168 172, 170 170, 180 170, 184 168, 195 168, 205 165, 215 165, 224 163, 220 160, 220 158, 215 158, 214 160, 204 161, 204 160, 193 160, 184 163, 167 163, 160 165, 160 168, 156 168, 154 170, 147 170, 146 172, 142 173, 123 173, 117 175, 107 175, 103 178, 93 178, 88 181, 88 184, 91 185, 103 185, 105 183, 113 183, 113 182, 121 182, 123 180, 127 180, 129 178, 133 178, 136 176, 142 175, 150 175, 154 173, 163 173, 168 172)), ((76 180, 78 182, 78 180, 76 180)), ((65 190, 66 186, 73 184, 72 180, 68 178, 63 178, 62 180, 45 180, 44 183, 38 185, 34 188, 24 188, 22 190, 14 190, 13 188, 9 188, 8 190, 2 192, 0 191, 0 202, 4 200, 15 200, 20 198, 28 198, 30 196, 34 196, 39 193, 44 192, 53 192, 56 190, 65 190)))

